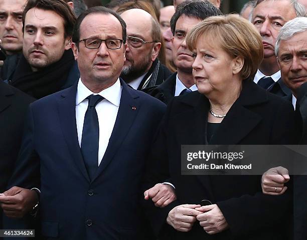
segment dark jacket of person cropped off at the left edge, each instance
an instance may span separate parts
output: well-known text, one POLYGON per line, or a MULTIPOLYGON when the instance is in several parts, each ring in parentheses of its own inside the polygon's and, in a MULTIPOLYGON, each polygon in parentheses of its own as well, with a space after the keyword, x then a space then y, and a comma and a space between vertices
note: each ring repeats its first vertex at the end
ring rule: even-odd
MULTIPOLYGON (((34 98, 0 81, 0 192, 13 173, 21 145, 24 120, 34 98)), ((2 217, 0 224, 2 225, 2 217)))

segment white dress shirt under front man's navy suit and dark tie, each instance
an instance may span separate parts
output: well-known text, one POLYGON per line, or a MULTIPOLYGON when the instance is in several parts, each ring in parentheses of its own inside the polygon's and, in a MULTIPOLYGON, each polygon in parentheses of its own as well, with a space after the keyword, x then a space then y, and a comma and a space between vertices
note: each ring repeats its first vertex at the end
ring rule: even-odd
POLYGON ((99 122, 98 166, 103 158, 113 131, 120 103, 121 90, 122 87, 119 79, 117 79, 117 81, 111 87, 102 90, 100 93, 93 93, 82 83, 81 79, 79 79, 78 82, 76 95, 76 121, 80 147, 82 141, 84 116, 88 106, 88 100, 86 98, 92 94, 100 95, 104 98, 96 105, 96 112, 99 122))

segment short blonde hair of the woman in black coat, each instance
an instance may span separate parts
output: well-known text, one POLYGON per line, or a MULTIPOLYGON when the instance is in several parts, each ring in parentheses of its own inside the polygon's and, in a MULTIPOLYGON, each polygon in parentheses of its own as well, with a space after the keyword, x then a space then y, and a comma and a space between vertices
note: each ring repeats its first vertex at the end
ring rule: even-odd
MULTIPOLYGON (((220 43, 221 48, 232 57, 244 58, 240 72, 242 79, 256 73, 263 59, 262 39, 256 28, 239 15, 214 16, 197 24, 187 35, 187 45, 196 49, 201 37, 220 43)), ((208 44, 210 44, 208 42, 208 44)))

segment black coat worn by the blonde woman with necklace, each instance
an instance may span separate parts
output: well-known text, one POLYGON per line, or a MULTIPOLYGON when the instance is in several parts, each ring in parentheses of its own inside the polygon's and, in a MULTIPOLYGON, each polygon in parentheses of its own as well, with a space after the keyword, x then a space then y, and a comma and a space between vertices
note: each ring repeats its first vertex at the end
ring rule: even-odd
MULTIPOLYGON (((208 144, 209 106, 199 92, 175 97, 168 106, 147 163, 144 189, 171 179, 178 199, 165 208, 143 201, 156 233, 166 239, 288 239, 283 222, 289 217, 290 191, 264 195, 260 176, 181 175, 181 145, 208 144), (165 223, 176 205, 199 204, 202 199, 219 206, 229 230, 208 235, 196 222, 190 232, 183 233, 165 223)), ((293 144, 297 137, 294 126, 294 111, 288 102, 245 81, 209 144, 293 144)))

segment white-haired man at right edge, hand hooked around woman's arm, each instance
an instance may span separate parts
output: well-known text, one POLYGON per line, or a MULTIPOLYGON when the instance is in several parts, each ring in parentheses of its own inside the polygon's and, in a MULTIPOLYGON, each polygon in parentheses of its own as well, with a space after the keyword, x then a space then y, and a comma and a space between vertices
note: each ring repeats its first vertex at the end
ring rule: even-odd
MULTIPOLYGON (((296 124, 302 123, 300 143, 306 144, 307 126, 307 18, 295 18, 287 22, 277 38, 275 54, 284 84, 291 89, 289 100, 296 115, 296 124)), ((307 169, 305 169, 307 172, 307 169)), ((293 173, 292 173, 293 174, 293 173)), ((269 169, 263 174, 262 189, 266 194, 280 195, 287 190, 285 185, 290 179, 288 170, 283 167, 269 169)), ((294 176, 294 239, 307 239, 307 177, 294 176)))

